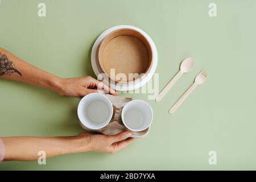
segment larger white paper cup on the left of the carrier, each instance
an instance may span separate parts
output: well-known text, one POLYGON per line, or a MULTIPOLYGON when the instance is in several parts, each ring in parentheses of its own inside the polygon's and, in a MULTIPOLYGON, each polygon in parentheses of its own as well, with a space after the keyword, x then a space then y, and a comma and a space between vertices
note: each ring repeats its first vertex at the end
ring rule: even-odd
POLYGON ((91 93, 79 102, 77 114, 84 129, 98 130, 112 119, 113 106, 104 94, 91 93))

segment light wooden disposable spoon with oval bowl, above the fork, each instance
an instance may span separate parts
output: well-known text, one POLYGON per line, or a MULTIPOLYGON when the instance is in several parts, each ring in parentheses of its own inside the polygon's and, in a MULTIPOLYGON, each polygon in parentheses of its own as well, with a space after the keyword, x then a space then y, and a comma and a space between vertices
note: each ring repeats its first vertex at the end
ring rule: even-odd
POLYGON ((187 59, 184 59, 182 63, 180 64, 180 71, 177 72, 177 74, 172 78, 172 80, 166 85, 166 87, 162 90, 162 92, 159 93, 159 95, 156 97, 155 101, 159 102, 162 100, 162 98, 166 95, 166 93, 174 86, 177 80, 183 75, 183 73, 187 73, 191 71, 191 69, 195 65, 195 60, 192 57, 188 57, 187 59))

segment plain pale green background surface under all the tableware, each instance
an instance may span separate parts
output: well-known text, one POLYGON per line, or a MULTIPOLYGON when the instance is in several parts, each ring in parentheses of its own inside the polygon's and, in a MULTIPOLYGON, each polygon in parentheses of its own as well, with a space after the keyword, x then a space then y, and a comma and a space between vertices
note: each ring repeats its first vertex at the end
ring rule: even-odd
MULTIPOLYGON (((114 155, 87 152, 37 162, 3 162, 3 169, 256 169, 256 1, 2 0, 0 47, 60 77, 95 76, 94 41, 107 28, 130 24, 146 31, 158 49, 159 87, 185 57, 196 67, 154 109, 150 134, 114 155), (38 3, 47 6, 38 17, 38 3), (217 17, 209 17, 209 3, 217 17), (201 70, 208 80, 176 111, 168 109, 201 70), (209 165, 209 151, 217 165, 209 165)), ((121 96, 147 100, 147 93, 121 96)), ((66 136, 82 130, 79 98, 0 79, 0 136, 66 136)))

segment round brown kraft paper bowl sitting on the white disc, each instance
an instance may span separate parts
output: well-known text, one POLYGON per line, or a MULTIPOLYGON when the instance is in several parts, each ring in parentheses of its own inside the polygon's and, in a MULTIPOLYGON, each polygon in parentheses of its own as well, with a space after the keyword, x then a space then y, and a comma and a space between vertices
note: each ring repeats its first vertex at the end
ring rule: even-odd
POLYGON ((150 71, 152 52, 150 43, 141 32, 120 28, 102 40, 97 52, 97 67, 109 77, 109 81, 134 82, 143 79, 150 71), (114 74, 111 74, 111 69, 114 74))

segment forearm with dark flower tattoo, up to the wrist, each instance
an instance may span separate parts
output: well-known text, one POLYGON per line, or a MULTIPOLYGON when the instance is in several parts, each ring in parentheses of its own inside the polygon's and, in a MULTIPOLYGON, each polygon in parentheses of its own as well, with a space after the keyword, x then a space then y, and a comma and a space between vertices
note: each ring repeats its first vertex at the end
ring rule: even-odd
POLYGON ((59 92, 61 78, 26 63, 2 48, 0 48, 0 61, 0 78, 22 81, 59 92))

